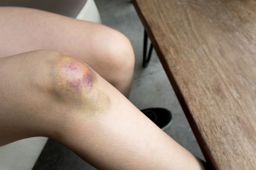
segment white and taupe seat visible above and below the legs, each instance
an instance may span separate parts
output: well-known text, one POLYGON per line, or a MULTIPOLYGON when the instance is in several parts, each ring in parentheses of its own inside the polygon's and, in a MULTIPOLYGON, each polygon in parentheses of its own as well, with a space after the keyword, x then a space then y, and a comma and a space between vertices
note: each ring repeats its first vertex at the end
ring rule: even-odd
MULTIPOLYGON (((37 8, 101 23, 94 0, 0 0, 0 6, 37 8)), ((0 147, 0 170, 31 170, 47 139, 32 137, 0 147)))

